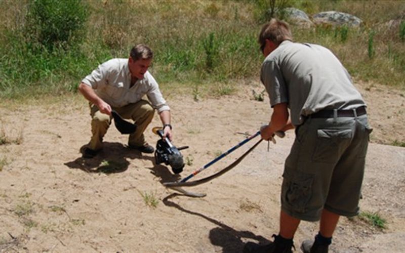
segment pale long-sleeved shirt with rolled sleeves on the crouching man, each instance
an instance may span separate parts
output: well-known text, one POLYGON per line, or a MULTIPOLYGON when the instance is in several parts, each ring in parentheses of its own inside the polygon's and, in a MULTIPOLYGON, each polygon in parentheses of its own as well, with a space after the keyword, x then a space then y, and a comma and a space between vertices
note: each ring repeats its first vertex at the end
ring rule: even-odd
POLYGON ((83 83, 92 87, 96 94, 112 107, 123 107, 136 103, 147 95, 152 106, 158 112, 168 111, 170 107, 161 95, 153 76, 146 71, 143 79, 131 85, 131 73, 128 59, 111 59, 99 65, 91 74, 86 76, 83 83))

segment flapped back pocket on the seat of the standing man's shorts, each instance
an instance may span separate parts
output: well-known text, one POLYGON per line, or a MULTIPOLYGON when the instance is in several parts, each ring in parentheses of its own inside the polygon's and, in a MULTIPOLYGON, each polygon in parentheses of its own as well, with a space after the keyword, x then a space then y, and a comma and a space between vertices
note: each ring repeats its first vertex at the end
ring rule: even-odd
POLYGON ((346 146, 353 137, 351 129, 318 129, 316 146, 312 160, 324 163, 336 163, 346 146))

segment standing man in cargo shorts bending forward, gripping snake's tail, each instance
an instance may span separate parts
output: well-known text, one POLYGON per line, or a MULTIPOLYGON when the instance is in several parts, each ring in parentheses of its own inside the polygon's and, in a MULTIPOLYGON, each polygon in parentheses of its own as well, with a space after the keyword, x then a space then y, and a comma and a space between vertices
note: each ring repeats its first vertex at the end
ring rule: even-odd
POLYGON ((331 51, 292 40, 288 25, 276 19, 259 35, 266 57, 261 81, 273 108, 261 136, 269 140, 276 131, 295 128, 296 138, 285 163, 278 235, 268 245, 248 242, 244 252, 291 252, 301 220, 320 220, 315 240, 301 249, 328 252, 339 217, 359 212, 372 130, 366 104, 331 51))

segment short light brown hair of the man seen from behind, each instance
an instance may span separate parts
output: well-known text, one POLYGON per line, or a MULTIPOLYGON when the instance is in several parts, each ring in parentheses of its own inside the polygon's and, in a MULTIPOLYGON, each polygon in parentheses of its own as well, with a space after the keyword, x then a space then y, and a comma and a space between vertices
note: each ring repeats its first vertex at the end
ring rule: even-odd
POLYGON ((276 45, 284 40, 293 40, 288 24, 284 21, 272 18, 269 22, 263 25, 259 34, 259 44, 263 45, 266 39, 270 39, 276 45))

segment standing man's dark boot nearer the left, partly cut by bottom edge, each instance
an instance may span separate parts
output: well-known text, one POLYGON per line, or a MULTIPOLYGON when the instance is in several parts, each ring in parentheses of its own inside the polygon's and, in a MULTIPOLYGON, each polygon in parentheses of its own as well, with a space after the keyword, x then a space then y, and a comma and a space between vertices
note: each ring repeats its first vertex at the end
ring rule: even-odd
POLYGON ((273 235, 274 241, 266 245, 255 242, 245 244, 243 253, 292 253, 293 239, 285 239, 279 235, 273 235))

